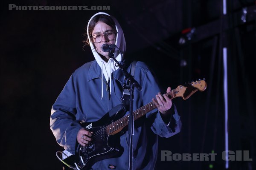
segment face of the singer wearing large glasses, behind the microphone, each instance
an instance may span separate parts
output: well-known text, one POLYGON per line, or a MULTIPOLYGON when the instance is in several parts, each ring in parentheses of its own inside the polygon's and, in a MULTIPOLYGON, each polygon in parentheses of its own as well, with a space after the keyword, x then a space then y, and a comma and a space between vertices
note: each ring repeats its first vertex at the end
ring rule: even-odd
MULTIPOLYGON (((92 32, 92 36, 96 35, 96 34, 104 34, 105 32, 108 31, 115 31, 111 26, 107 25, 106 23, 103 23, 101 21, 99 21, 98 23, 96 23, 93 32, 92 32)), ((108 57, 108 52, 104 52, 102 51, 101 47, 103 44, 115 44, 116 40, 108 40, 108 38, 106 38, 105 36, 102 36, 102 41, 99 43, 94 43, 94 46, 96 48, 96 51, 101 54, 102 56, 105 56, 107 59, 109 59, 108 57)))

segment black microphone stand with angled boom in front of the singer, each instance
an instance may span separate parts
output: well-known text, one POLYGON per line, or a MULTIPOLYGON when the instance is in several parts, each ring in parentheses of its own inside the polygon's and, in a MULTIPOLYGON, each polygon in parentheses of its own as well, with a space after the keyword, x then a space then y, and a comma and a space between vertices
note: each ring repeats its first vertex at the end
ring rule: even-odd
MULTIPOLYGON (((119 49, 118 49, 119 50, 119 49)), ((120 52, 120 51, 119 51, 120 52)), ((120 52, 121 54, 121 52, 120 52)), ((121 54, 122 55, 122 54, 121 54)), ((134 136, 134 116, 133 116, 133 93, 134 87, 141 91, 141 86, 139 83, 134 79, 131 74, 129 74, 125 69, 124 62, 118 62, 113 54, 113 49, 108 52, 108 57, 112 58, 116 65, 123 71, 125 78, 129 80, 129 92, 130 92, 130 115, 129 115, 129 123, 128 123, 128 130, 129 130, 129 167, 128 170, 132 170, 133 167, 133 136, 134 136)))

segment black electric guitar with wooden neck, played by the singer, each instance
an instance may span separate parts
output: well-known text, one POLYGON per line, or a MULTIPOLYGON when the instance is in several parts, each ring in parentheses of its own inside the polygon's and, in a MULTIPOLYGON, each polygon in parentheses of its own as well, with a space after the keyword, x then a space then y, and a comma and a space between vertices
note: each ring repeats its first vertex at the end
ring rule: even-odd
MULTIPOLYGON (((207 83, 205 79, 199 79, 195 82, 179 85, 166 95, 170 99, 182 97, 186 100, 196 91, 204 91, 206 88, 207 83)), ((133 112, 134 121, 155 108, 157 106, 153 102, 150 102, 137 109, 133 112)), ((61 153, 61 151, 57 151, 56 156, 58 159, 73 170, 88 170, 96 161, 121 156, 123 148, 119 142, 116 142, 119 139, 117 133, 121 133, 121 130, 128 125, 129 115, 124 116, 125 108, 122 105, 116 106, 109 113, 105 114, 105 116, 96 122, 82 123, 84 128, 93 131, 93 141, 86 147, 79 146, 79 153, 76 153, 76 155, 64 150, 62 152, 62 159, 57 154, 61 153), (115 114, 109 117, 109 113, 115 114)))

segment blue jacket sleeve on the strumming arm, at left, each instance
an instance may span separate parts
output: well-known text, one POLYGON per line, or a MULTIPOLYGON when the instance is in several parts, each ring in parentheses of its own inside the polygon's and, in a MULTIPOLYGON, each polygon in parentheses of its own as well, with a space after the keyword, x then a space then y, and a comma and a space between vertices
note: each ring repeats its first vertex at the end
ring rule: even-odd
POLYGON ((59 145, 75 154, 76 136, 82 128, 76 121, 76 91, 74 77, 70 79, 52 106, 50 129, 59 145))

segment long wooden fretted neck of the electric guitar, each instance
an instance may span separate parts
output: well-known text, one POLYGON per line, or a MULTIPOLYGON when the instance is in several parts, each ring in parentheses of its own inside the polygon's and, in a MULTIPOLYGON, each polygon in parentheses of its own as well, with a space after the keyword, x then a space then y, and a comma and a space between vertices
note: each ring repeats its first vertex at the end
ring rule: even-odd
MULTIPOLYGON (((170 99, 173 99, 173 98, 177 97, 175 94, 177 94, 177 88, 170 91, 166 95, 169 96, 170 99)), ((144 105, 143 107, 137 109, 136 111, 133 112, 134 121, 139 119, 140 117, 143 117, 146 113, 154 110, 155 108, 157 108, 157 106, 154 105, 153 102, 150 102, 147 105, 144 105)), ((127 126, 128 122, 129 122, 129 116, 130 115, 124 116, 121 119, 108 125, 106 128, 107 134, 110 135, 111 133, 115 133, 116 131, 127 126)))

